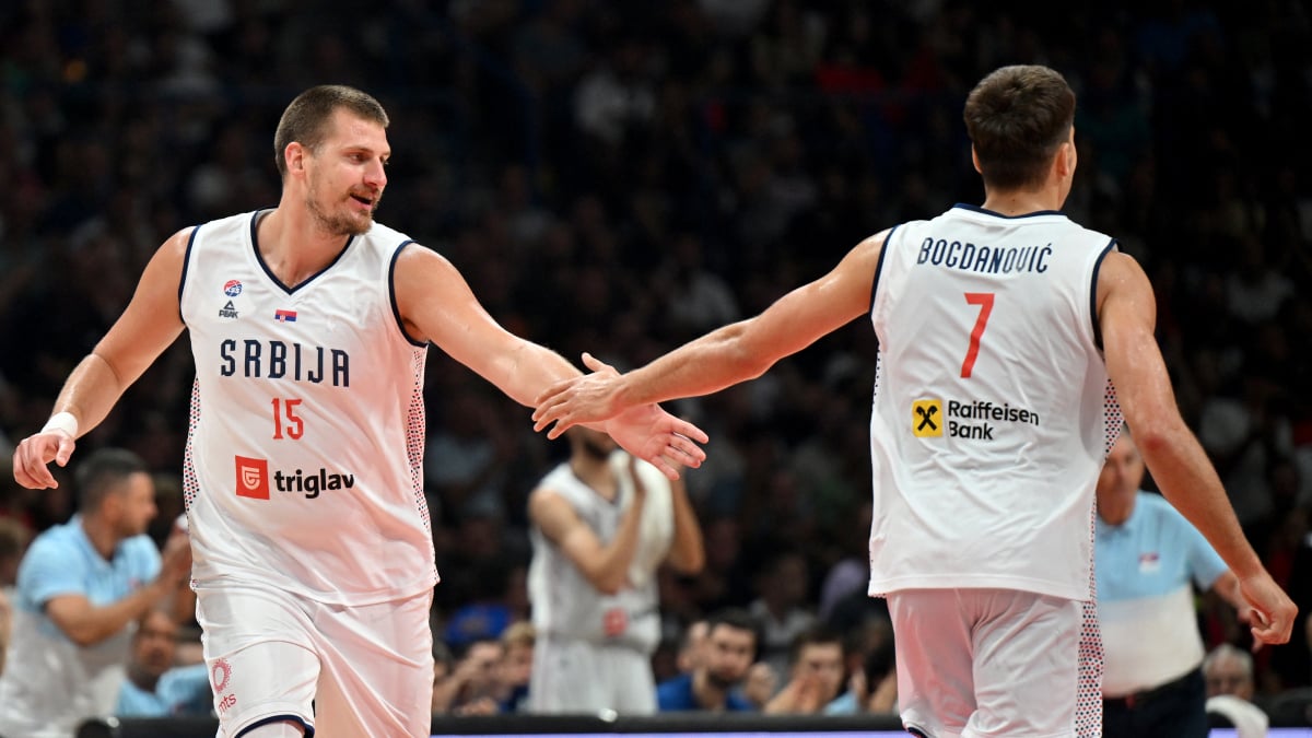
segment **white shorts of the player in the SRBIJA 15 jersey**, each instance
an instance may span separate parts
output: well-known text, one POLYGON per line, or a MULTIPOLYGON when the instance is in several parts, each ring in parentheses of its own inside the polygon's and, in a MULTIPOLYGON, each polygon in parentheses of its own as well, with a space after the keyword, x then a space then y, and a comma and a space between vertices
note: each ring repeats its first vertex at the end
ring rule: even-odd
POLYGON ((260 586, 198 588, 218 735, 278 721, 318 738, 429 735, 432 600, 345 607, 260 586))

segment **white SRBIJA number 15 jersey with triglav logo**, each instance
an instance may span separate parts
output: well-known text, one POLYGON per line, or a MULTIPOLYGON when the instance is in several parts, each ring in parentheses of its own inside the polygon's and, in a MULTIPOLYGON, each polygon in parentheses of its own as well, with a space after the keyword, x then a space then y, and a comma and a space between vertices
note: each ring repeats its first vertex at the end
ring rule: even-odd
POLYGON ((340 604, 429 588, 426 347, 403 332, 392 294, 411 240, 374 223, 289 289, 260 256, 260 215, 205 223, 186 251, 193 578, 340 604))

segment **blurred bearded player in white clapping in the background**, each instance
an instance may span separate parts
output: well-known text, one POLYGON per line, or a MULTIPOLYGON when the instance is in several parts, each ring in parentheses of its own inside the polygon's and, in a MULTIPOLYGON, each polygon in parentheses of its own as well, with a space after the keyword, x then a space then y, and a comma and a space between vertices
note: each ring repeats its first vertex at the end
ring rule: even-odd
POLYGON ((538 633, 529 709, 656 712, 656 570, 701 571, 702 531, 681 482, 572 428, 569 458, 529 498, 529 597, 538 633))

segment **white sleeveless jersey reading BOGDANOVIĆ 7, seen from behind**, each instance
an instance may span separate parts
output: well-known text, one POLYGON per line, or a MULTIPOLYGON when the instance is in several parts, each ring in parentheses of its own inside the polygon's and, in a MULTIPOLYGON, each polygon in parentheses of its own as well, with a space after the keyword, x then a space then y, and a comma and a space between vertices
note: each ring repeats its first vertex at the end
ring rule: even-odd
POLYGON ((1092 597, 1115 397, 1094 284, 1115 242, 958 205, 895 228, 875 278, 870 594, 1092 597))

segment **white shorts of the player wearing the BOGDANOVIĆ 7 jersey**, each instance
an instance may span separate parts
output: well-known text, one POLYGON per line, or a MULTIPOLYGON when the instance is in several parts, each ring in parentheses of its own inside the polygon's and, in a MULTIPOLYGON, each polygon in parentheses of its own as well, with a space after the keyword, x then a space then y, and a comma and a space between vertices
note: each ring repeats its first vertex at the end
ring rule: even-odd
POLYGON ((1081 603, 1015 590, 888 594, 903 725, 928 738, 1076 735, 1081 603))

